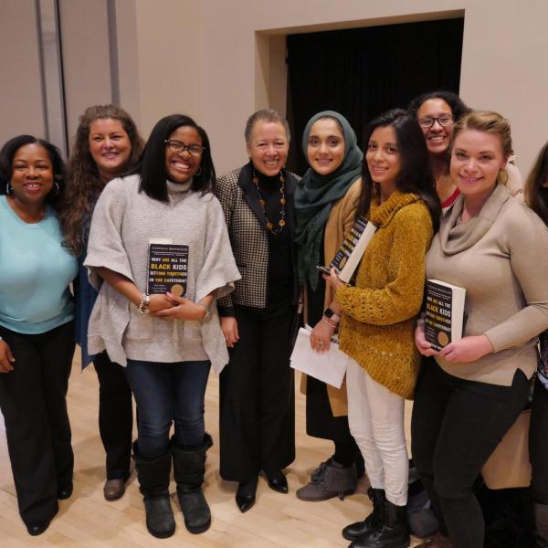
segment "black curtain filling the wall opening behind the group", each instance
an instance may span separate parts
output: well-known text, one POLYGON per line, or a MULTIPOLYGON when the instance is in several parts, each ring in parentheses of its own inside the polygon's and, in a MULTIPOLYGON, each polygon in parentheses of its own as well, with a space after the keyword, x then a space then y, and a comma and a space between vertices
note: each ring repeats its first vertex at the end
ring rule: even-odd
POLYGON ((463 27, 458 18, 288 36, 290 170, 308 167, 300 141, 316 112, 341 112, 363 148, 364 125, 381 112, 424 91, 458 93, 463 27))

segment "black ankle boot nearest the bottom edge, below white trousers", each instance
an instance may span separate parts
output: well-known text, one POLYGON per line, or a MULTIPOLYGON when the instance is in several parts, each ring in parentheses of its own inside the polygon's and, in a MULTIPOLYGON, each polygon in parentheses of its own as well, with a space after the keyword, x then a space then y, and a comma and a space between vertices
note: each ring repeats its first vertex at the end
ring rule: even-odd
POLYGON ((385 501, 383 523, 376 531, 360 537, 350 548, 408 548, 411 539, 407 525, 406 506, 385 501))

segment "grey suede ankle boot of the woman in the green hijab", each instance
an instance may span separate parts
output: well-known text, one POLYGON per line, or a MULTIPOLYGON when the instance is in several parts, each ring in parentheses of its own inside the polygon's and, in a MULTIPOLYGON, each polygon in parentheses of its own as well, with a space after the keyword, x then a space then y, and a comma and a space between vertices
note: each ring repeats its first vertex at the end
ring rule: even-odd
POLYGON ((358 484, 356 465, 342 466, 333 458, 322 462, 311 475, 311 481, 297 490, 301 501, 327 501, 333 497, 344 500, 352 494, 358 484))

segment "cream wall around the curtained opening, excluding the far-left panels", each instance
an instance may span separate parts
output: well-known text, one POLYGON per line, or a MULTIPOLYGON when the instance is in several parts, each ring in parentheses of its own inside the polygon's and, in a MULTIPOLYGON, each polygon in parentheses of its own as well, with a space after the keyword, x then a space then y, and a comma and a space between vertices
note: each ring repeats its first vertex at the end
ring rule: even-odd
POLYGON ((150 130, 168 111, 194 115, 210 134, 219 173, 246 160, 242 133, 248 115, 269 104, 284 105, 279 36, 426 20, 439 12, 464 10, 461 95, 473 107, 510 118, 523 172, 548 139, 545 0, 204 0, 193 2, 194 10, 190 5, 135 2, 142 127, 150 130), (185 51, 192 47, 201 49, 190 58, 185 51))

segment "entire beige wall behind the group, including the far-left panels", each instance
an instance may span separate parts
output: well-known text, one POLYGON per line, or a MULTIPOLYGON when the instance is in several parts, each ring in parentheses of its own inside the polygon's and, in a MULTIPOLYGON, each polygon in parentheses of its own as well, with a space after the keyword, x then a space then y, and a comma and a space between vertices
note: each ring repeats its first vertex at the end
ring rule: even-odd
MULTIPOLYGON (((44 132, 34 0, 0 0, 0 142, 44 132)), ((71 135, 110 100, 106 0, 61 0, 71 135)), ((121 104, 147 135, 184 112, 219 174, 246 161, 248 115, 285 110, 284 37, 465 14, 460 92, 510 118, 523 173, 548 139, 546 0, 116 0, 121 104)))

